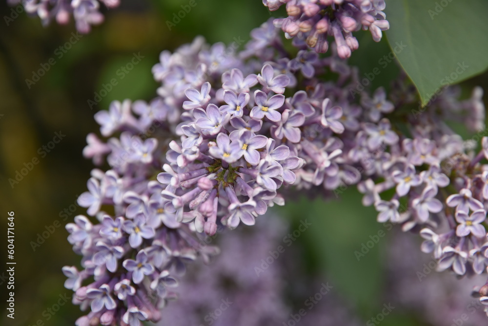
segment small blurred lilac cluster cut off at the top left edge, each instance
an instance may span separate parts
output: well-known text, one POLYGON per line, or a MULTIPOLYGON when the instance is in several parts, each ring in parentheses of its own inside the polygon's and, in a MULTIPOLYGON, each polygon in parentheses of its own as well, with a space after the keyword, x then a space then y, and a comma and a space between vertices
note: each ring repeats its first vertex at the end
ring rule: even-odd
POLYGON ((60 24, 69 22, 73 16, 76 29, 88 33, 91 25, 103 22, 100 6, 115 8, 120 0, 7 0, 10 5, 22 4, 27 14, 39 16, 45 26, 53 19, 60 24))

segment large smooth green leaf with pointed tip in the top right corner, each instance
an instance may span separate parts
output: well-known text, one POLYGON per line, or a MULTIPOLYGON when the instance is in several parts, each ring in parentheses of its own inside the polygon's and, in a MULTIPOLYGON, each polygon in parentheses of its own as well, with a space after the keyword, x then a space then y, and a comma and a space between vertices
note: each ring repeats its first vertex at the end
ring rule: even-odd
POLYGON ((488 68, 487 0, 387 0, 386 37, 422 105, 488 68))

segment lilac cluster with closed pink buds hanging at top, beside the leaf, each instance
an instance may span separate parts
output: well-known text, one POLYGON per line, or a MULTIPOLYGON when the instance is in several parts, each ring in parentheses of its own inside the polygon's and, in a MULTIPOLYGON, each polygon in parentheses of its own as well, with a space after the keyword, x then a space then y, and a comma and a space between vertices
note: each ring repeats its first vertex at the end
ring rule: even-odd
POLYGON ((351 51, 359 47, 352 32, 364 29, 371 32, 373 40, 379 42, 382 31, 389 28, 386 21, 385 0, 263 0, 269 10, 277 10, 286 4, 288 17, 275 19, 286 38, 297 37, 318 53, 325 53, 329 47, 327 37, 331 36, 337 45, 341 58, 349 58, 351 51))

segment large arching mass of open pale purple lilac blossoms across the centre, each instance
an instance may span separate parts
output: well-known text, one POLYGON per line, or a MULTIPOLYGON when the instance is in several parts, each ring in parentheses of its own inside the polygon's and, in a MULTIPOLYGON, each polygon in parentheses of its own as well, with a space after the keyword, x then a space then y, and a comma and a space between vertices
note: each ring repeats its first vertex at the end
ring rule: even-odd
POLYGON ((110 169, 93 171, 79 203, 100 223, 67 225, 84 269, 65 267, 66 286, 91 307, 79 325, 157 321, 184 262, 217 252, 199 245, 201 233, 253 225, 293 189, 338 196, 358 184, 378 221, 422 230, 439 269, 485 271, 488 169, 479 162, 488 140, 474 155, 448 123, 484 128, 481 89, 458 101, 447 88, 411 110, 406 78, 389 96, 359 91, 339 44, 326 58, 306 46, 288 53, 272 20, 251 36, 240 52, 202 38, 164 51, 155 99, 96 113, 110 138, 90 134, 84 155, 96 164, 106 156, 110 169))

